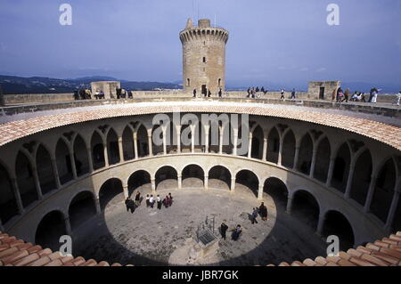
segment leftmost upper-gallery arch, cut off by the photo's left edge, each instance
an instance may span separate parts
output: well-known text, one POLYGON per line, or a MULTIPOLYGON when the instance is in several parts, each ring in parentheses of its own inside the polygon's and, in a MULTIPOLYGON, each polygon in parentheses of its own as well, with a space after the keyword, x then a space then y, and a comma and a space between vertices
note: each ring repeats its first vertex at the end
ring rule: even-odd
POLYGON ((0 162, 0 220, 7 223, 13 216, 18 215, 18 205, 12 190, 10 174, 0 162))

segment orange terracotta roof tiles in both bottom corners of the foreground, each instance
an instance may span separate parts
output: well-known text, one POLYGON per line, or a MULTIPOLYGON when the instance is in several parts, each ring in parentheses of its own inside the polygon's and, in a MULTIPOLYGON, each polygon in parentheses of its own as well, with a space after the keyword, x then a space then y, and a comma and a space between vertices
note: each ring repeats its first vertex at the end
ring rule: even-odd
MULTIPOLYGON (((97 263, 78 256, 61 256, 49 248, 34 246, 0 231, 0 266, 121 266, 97 263)), ((132 266, 132 265, 129 265, 132 266)), ((274 266, 269 264, 267 266, 274 266)), ((317 256, 303 262, 281 263, 279 266, 401 266, 401 231, 389 238, 368 243, 364 247, 348 249, 339 256, 317 256)))

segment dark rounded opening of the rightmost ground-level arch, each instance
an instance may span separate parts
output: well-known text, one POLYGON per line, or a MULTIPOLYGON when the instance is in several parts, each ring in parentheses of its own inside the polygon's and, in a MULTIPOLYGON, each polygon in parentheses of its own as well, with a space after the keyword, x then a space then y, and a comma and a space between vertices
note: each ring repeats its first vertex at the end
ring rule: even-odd
POLYGON ((322 236, 335 235, 340 239, 340 250, 347 251, 354 247, 355 235, 348 218, 337 210, 329 210, 323 216, 322 236))

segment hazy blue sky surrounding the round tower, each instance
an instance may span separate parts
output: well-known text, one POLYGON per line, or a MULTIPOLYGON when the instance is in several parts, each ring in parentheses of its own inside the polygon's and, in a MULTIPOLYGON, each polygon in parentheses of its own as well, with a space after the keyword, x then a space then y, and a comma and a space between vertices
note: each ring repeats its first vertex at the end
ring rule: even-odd
POLYGON ((230 33, 228 85, 401 85, 400 0, 1 0, 0 74, 181 80, 186 20, 230 33), (72 26, 59 7, 72 6, 72 26), (329 26, 328 4, 340 7, 329 26))

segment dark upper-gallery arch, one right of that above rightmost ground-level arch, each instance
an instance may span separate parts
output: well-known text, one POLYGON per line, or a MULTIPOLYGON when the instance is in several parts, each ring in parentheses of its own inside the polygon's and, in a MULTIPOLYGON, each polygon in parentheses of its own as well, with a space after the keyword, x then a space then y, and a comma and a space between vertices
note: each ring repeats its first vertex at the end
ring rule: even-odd
POLYGON ((364 150, 358 157, 354 168, 349 196, 364 206, 372 177, 372 155, 370 150, 364 150))

